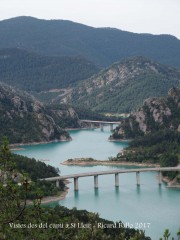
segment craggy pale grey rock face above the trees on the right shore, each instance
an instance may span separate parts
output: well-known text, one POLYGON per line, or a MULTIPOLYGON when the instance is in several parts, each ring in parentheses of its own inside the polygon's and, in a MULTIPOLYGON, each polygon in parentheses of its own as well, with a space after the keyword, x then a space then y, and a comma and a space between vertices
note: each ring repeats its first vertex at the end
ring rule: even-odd
POLYGON ((160 129, 180 131, 180 88, 171 88, 167 97, 150 98, 122 122, 112 138, 133 138, 160 129))

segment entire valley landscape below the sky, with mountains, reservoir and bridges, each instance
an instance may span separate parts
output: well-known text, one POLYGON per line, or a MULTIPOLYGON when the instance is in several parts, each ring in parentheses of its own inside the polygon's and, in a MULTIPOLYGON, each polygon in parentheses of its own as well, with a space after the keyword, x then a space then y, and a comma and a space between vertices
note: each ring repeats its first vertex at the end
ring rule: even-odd
POLYGON ((176 238, 180 40, 26 16, 0 32, 0 239, 176 238))

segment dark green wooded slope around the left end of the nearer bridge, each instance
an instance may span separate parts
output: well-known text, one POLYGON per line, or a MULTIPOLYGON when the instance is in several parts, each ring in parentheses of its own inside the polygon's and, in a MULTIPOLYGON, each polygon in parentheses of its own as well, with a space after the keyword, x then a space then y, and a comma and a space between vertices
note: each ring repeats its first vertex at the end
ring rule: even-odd
MULTIPOLYGON (((39 195, 41 198, 46 196, 59 196, 61 191, 65 190, 65 184, 62 180, 59 181, 59 187, 56 187, 54 182, 40 181, 41 178, 59 176, 60 170, 44 162, 36 161, 34 158, 28 158, 17 154, 12 154, 13 163, 16 166, 17 176, 26 176, 31 180, 27 199, 34 200, 39 195)), ((22 177, 19 178, 21 181, 22 177)), ((18 180, 18 177, 16 178, 18 180)), ((21 195, 22 197, 22 195, 21 195)))

